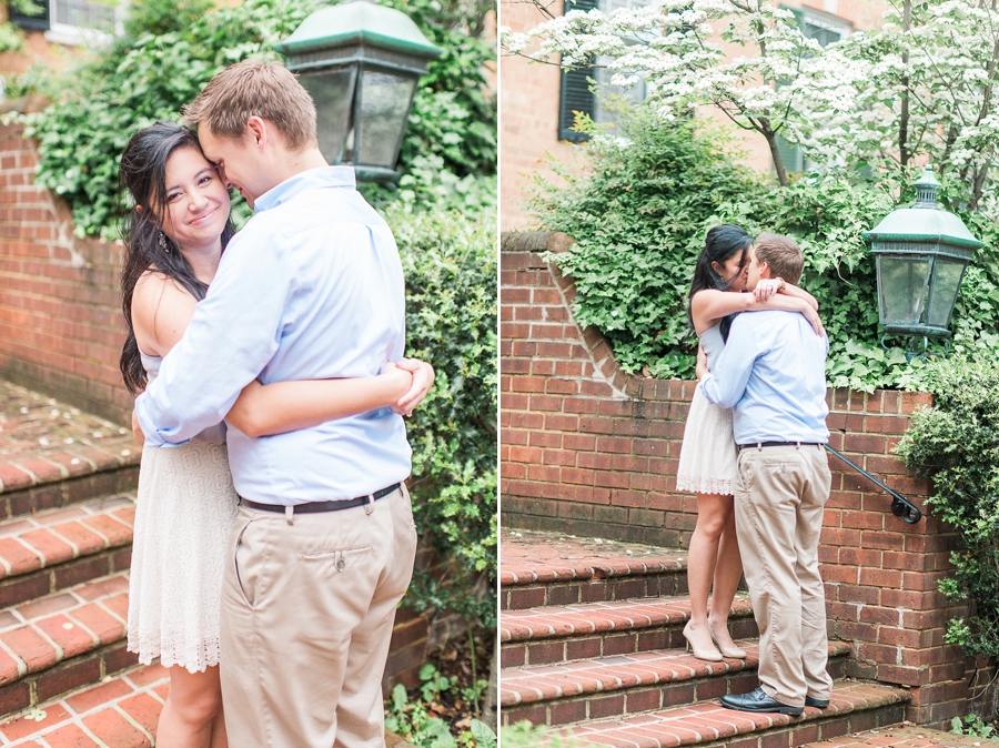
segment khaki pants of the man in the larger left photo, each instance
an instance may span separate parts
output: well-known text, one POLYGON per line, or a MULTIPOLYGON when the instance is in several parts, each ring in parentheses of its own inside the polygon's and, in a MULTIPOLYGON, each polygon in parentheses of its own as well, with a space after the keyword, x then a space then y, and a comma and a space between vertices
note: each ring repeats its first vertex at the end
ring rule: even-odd
POLYGON ((293 524, 240 507, 222 585, 229 745, 385 745, 382 675, 415 554, 404 487, 293 524))

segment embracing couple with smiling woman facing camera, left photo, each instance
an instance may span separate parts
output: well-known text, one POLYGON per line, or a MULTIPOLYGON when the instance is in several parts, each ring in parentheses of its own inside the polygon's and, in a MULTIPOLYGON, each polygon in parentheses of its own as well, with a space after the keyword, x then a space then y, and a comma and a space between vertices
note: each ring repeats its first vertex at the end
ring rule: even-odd
POLYGON ((129 649, 162 748, 384 746, 381 679, 416 532, 404 281, 284 67, 219 73, 131 139, 124 381, 144 441, 129 649), (229 188, 254 215, 236 234, 229 188))

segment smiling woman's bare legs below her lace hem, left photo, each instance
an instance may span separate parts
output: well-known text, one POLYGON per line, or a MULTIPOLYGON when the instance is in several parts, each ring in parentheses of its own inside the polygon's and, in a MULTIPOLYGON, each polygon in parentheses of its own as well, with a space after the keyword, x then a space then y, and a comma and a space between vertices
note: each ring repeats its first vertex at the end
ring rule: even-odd
POLYGON ((168 668, 170 691, 157 726, 157 748, 226 748, 216 742, 216 721, 222 717, 222 686, 219 668, 188 673, 180 666, 168 668))

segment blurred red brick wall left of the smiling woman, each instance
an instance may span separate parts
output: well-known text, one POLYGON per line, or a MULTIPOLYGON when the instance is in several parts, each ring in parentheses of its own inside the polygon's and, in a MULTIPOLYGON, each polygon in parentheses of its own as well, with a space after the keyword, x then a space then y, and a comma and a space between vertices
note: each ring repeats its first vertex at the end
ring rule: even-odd
MULTIPOLYGON (((0 114, 44 103, 8 102, 0 114)), ((34 185, 36 165, 22 125, 0 124, 0 375, 128 423, 120 247, 74 237, 65 203, 34 185)))

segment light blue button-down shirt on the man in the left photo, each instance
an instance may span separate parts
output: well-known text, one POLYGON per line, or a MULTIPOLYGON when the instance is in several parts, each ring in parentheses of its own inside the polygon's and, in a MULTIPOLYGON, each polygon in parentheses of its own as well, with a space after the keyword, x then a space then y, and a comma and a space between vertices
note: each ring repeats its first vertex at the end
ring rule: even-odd
MULTIPOLYGON (((398 361, 405 289, 392 232, 350 166, 313 169, 261 195, 160 375, 135 402, 148 446, 175 446, 229 413, 242 388, 374 376, 398 361)), ((389 408, 251 438, 229 426, 241 496, 266 504, 370 494, 410 475, 389 408)))

